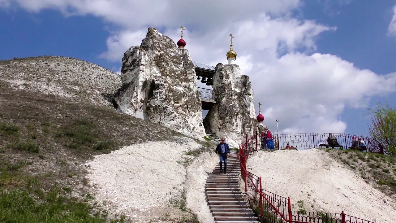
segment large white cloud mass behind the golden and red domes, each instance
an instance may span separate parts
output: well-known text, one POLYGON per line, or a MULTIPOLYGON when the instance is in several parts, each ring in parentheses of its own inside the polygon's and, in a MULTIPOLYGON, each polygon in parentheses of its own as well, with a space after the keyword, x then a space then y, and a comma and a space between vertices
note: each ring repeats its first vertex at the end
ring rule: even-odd
MULTIPOLYGON (((121 26, 110 33, 100 57, 119 61, 140 45, 147 27, 159 27, 175 42, 180 25, 194 62, 227 63, 229 33, 235 36, 236 64, 249 75, 264 123, 281 132, 335 132, 346 129, 339 117, 346 107, 362 108, 369 99, 396 91, 396 72, 378 75, 335 55, 316 51, 316 38, 335 27, 291 17, 291 1, 27 1, 31 12, 45 8, 64 15, 94 15, 121 26)), ((394 21, 394 19, 392 20, 394 21)), ((258 111, 258 107, 256 106, 258 111)))

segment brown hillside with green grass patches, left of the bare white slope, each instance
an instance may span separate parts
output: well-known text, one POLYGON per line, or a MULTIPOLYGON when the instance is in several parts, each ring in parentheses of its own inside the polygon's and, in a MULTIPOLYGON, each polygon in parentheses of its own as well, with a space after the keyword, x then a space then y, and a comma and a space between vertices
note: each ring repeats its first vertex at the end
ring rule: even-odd
POLYGON ((11 90, 0 81, 0 222, 124 222, 93 208, 84 161, 181 136, 110 108, 11 90))

